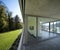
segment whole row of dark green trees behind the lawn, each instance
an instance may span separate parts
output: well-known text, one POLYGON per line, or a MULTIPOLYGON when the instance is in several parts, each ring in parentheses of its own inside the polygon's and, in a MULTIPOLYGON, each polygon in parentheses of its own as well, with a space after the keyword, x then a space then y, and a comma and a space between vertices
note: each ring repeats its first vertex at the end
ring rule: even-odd
POLYGON ((0 32, 20 29, 19 16, 12 17, 12 12, 7 12, 5 5, 0 5, 0 32))

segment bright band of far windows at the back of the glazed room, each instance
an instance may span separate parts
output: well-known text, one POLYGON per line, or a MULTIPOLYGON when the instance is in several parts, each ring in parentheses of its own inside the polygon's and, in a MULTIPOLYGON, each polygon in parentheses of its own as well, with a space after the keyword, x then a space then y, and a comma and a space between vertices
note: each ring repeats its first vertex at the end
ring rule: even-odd
POLYGON ((49 29, 49 22, 44 23, 42 26, 43 26, 42 30, 50 31, 54 33, 60 33, 60 21, 50 22, 50 29, 49 29))

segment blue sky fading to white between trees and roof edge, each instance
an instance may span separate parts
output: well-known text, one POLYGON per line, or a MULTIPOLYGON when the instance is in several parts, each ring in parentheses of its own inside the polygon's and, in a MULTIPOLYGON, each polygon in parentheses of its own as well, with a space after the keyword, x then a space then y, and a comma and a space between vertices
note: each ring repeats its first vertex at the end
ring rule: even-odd
POLYGON ((18 0, 1 0, 8 7, 9 11, 12 12, 12 16, 18 15, 22 22, 22 15, 19 7, 18 0))

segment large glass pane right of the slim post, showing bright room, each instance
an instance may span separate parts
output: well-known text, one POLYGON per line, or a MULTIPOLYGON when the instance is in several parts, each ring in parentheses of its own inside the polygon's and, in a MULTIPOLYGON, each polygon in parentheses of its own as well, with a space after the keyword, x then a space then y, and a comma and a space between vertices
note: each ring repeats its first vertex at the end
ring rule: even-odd
POLYGON ((57 36, 55 33, 59 32, 57 31, 57 27, 59 26, 56 23, 57 22, 51 22, 47 19, 43 21, 43 18, 38 18, 38 38, 45 40, 57 36))

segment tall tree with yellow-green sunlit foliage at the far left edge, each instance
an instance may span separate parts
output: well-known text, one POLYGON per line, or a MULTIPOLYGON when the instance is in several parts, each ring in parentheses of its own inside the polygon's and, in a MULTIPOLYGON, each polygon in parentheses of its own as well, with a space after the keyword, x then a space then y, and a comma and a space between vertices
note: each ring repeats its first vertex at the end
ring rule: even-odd
POLYGON ((7 17, 6 10, 3 5, 0 5, 0 32, 5 31, 7 28, 7 17))

